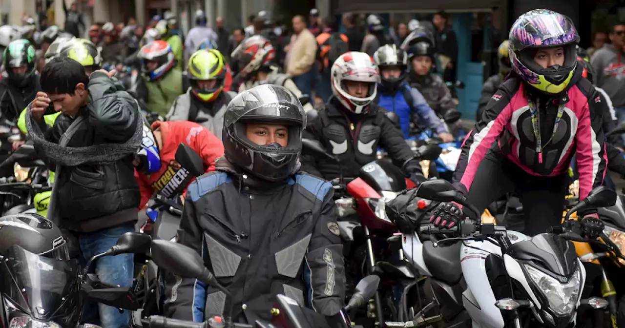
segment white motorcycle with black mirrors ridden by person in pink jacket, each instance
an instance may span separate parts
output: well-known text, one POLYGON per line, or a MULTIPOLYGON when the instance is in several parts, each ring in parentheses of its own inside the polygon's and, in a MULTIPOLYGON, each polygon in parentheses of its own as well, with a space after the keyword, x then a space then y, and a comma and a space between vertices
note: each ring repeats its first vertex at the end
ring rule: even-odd
MULTIPOLYGON (((455 201, 477 215, 464 196, 444 180, 422 183, 416 197, 455 201)), ((598 187, 572 211, 611 206, 615 198, 613 191, 598 187)), ((607 302, 598 297, 581 299, 586 270, 571 241, 588 239, 566 227, 529 237, 468 220, 452 229, 428 224, 419 227, 420 233, 404 234, 402 249, 406 261, 426 277, 423 308, 438 309, 439 327, 572 327, 578 307, 602 309, 607 302), (441 234, 461 237, 432 242, 424 234, 432 239, 441 234)), ((417 325, 404 322, 394 327, 417 325)))

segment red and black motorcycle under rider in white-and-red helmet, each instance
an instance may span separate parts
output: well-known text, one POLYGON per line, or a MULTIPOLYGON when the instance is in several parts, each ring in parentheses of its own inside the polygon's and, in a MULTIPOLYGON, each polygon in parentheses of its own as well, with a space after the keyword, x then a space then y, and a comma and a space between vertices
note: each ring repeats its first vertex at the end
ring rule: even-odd
MULTIPOLYGON (((302 151, 341 164, 318 141, 303 139, 302 151)), ((440 147, 427 145, 417 149, 415 154, 422 159, 436 159, 440 152, 440 147)), ((366 274, 385 278, 382 292, 376 292, 373 306, 367 309, 367 316, 375 317, 379 322, 386 322, 385 317, 400 320, 411 316, 406 299, 415 286, 416 276, 404 262, 399 239, 393 235, 397 228, 386 216, 385 206, 397 194, 414 186, 398 167, 388 161, 366 164, 355 179, 341 176, 332 181, 339 232, 346 249, 344 253, 350 260, 346 261, 348 286, 350 281, 356 280, 354 277, 366 274), (385 311, 387 307, 389 311, 385 311), (385 316, 388 312, 391 314, 385 316)))

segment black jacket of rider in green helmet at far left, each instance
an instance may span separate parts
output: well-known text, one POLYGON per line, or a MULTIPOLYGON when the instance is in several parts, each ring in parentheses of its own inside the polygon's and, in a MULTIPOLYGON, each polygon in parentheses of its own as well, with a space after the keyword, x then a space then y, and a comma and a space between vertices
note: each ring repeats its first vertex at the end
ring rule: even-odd
POLYGON ((0 80, 0 113, 1 119, 10 122, 17 122, 19 114, 28 104, 31 103, 37 92, 41 91, 39 86, 39 75, 33 74, 28 77, 28 81, 24 87, 17 87, 10 79, 0 80))

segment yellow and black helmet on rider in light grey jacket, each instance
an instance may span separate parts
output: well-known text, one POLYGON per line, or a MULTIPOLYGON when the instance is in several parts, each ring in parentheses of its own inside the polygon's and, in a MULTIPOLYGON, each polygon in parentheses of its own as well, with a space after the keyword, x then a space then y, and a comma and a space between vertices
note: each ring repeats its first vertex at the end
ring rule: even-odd
POLYGON ((194 52, 189 58, 187 77, 191 83, 193 94, 201 101, 215 101, 224 89, 226 78, 226 61, 216 49, 202 49, 194 52), (201 87, 199 81, 216 80, 211 88, 201 87))

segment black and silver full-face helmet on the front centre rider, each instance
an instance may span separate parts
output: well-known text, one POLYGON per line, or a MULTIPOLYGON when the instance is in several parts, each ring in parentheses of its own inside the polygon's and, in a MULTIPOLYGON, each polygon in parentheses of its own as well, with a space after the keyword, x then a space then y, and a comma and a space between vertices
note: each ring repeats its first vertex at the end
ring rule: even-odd
POLYGON ((299 163, 305 127, 306 113, 293 92, 271 84, 252 87, 234 97, 226 109, 222 132, 226 159, 260 179, 285 179, 299 163), (249 141, 247 122, 286 125, 287 146, 277 143, 259 146, 249 141))

